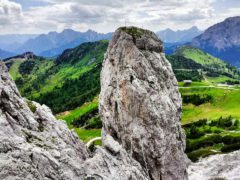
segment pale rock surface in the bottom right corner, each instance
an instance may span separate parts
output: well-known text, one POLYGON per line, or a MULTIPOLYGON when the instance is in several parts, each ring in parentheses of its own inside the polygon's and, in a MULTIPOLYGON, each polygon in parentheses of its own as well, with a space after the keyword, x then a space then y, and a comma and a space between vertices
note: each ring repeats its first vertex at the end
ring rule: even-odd
POLYGON ((240 151, 218 154, 192 163, 188 168, 189 180, 239 180, 240 151))

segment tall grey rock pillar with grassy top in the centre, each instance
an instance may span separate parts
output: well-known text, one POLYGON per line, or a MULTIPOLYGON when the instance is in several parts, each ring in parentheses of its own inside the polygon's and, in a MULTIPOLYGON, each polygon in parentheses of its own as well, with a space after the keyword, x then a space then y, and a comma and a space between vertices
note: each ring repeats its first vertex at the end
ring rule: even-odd
POLYGON ((162 42, 148 30, 119 28, 101 72, 103 145, 111 136, 148 179, 187 179, 181 97, 162 42))

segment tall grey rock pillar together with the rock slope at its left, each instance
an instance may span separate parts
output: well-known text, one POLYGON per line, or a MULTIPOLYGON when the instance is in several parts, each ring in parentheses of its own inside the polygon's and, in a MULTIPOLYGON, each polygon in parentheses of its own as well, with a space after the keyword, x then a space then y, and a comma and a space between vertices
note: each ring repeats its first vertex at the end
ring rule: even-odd
POLYGON ((118 29, 101 83, 103 146, 89 152, 48 107, 21 97, 0 62, 0 179, 187 179, 181 98, 156 35, 118 29))

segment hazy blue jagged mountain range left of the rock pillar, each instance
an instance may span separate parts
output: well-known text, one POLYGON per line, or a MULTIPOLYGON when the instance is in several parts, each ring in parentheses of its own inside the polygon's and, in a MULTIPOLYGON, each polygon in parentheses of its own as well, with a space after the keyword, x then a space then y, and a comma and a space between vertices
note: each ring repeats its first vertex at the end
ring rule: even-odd
POLYGON ((44 57, 54 57, 61 54, 65 49, 73 48, 84 42, 93 42, 103 39, 111 39, 112 33, 97 33, 93 30, 77 32, 65 29, 61 33, 50 32, 41 34, 34 39, 29 39, 15 52, 23 53, 32 51, 44 57))

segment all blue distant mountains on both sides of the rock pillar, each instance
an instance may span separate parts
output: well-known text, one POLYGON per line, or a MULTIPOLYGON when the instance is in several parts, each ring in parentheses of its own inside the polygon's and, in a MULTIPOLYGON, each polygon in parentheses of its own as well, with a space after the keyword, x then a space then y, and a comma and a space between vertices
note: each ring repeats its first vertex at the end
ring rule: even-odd
MULTIPOLYGON (((157 32, 164 42, 165 53, 172 54, 183 45, 190 45, 240 67, 240 16, 227 18, 202 32, 196 26, 186 30, 166 29, 157 32)), ((109 40, 112 33, 98 33, 93 30, 78 32, 71 29, 50 32, 41 35, 6 35, 0 36, 1 58, 6 58, 26 51, 38 56, 57 57, 64 50, 74 48, 84 42, 109 40), (15 39, 15 40, 14 40, 15 39), (6 42, 9 41, 8 47, 6 42), (15 42, 15 44, 11 44, 15 42), (3 45, 5 44, 5 45, 3 45), (11 53, 12 52, 12 53, 11 53)))

